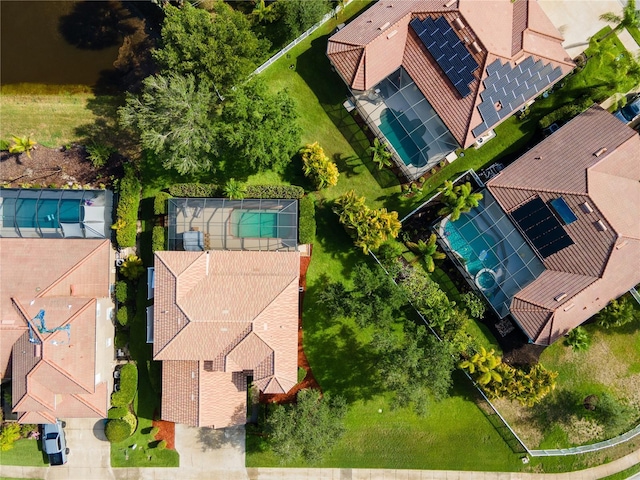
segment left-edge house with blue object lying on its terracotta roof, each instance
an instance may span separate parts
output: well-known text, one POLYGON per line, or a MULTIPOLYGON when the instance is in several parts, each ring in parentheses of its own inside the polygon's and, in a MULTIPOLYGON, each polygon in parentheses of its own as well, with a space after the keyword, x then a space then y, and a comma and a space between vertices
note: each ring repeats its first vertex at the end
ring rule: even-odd
POLYGON ((0 372, 11 379, 18 421, 106 417, 114 358, 109 240, 0 238, 0 256, 0 372))

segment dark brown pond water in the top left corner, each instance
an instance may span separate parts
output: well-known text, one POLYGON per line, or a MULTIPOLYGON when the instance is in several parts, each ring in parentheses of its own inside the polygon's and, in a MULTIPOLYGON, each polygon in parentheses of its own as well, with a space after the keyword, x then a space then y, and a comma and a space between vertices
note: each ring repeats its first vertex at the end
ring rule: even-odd
POLYGON ((95 85, 123 38, 119 2, 0 1, 0 84, 95 85))

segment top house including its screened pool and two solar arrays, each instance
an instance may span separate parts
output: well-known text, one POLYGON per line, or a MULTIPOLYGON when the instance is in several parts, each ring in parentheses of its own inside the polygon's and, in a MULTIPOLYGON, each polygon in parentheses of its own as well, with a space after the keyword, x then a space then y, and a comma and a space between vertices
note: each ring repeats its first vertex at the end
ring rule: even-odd
POLYGON ((380 0, 327 55, 409 178, 490 138, 574 67, 534 0, 380 0))

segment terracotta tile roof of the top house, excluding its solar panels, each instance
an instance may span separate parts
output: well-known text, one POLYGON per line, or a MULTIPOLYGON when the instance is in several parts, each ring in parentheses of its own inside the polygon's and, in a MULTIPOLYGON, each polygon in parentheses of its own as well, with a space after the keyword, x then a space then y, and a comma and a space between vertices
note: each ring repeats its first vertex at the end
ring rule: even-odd
POLYGON ((534 61, 541 60, 557 70, 550 77, 550 84, 568 74, 574 65, 562 48, 561 35, 537 1, 459 0, 449 7, 444 3, 381 0, 329 39, 327 55, 354 90, 372 88, 402 65, 458 143, 466 148, 542 93, 527 89, 525 99, 510 105, 508 111, 503 110, 496 122, 484 122, 478 107, 483 101, 480 94, 485 89, 487 67, 493 61, 499 59, 514 67, 516 61, 528 56, 534 61), (474 72, 476 80, 470 85, 471 94, 464 98, 409 27, 412 18, 422 20, 426 16, 444 16, 451 25, 454 20, 461 22, 464 28, 453 29, 456 35, 464 43, 477 42, 481 49, 480 53, 469 49, 480 68, 474 72))

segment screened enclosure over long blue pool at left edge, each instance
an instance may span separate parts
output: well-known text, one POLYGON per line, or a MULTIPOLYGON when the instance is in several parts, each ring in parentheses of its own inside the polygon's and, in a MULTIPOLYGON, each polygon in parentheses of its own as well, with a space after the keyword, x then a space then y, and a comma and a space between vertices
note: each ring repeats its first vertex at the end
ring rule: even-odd
POLYGON ((1 237, 109 238, 108 190, 0 189, 1 237))

